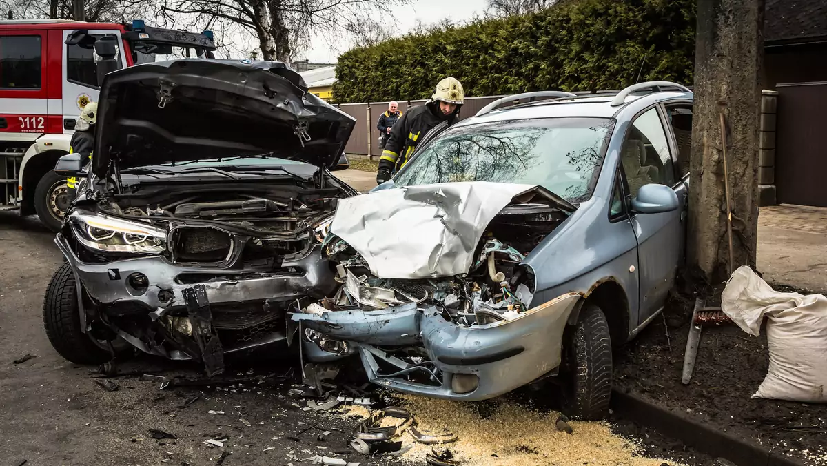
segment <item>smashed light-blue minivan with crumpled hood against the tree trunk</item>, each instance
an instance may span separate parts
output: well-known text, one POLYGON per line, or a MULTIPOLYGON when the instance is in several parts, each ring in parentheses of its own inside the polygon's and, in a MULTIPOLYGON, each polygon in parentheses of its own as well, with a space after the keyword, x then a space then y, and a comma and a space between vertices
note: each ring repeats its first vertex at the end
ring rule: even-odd
POLYGON ((612 345, 662 310, 683 260, 691 104, 663 82, 534 93, 434 128, 340 201, 337 291, 290 317, 302 358, 356 356, 371 382, 451 400, 555 382, 565 411, 604 417, 612 345), (495 110, 533 97, 552 99, 495 110))

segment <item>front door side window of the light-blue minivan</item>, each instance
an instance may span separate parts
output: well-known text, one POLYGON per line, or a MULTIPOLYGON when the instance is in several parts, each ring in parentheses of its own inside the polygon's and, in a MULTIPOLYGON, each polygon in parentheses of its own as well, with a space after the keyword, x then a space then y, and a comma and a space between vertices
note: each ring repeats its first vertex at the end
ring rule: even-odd
POLYGON ((663 131, 657 108, 640 115, 629 128, 621 161, 632 197, 638 195, 641 186, 649 183, 675 184, 667 133, 663 131))

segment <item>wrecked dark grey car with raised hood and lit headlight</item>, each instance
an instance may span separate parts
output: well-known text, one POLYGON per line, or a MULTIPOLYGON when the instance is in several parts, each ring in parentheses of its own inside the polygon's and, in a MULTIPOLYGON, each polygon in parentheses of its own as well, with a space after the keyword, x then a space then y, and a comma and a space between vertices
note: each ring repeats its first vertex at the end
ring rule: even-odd
POLYGON ((337 289, 318 228, 356 195, 330 173, 354 123, 276 62, 108 74, 90 170, 55 169, 83 177, 44 300, 58 353, 101 363, 127 342, 215 375, 284 342, 289 306, 337 289))

